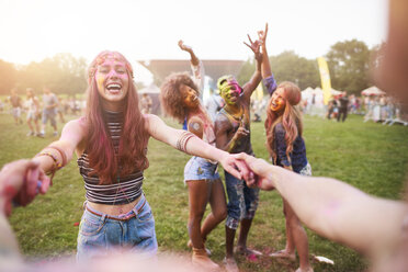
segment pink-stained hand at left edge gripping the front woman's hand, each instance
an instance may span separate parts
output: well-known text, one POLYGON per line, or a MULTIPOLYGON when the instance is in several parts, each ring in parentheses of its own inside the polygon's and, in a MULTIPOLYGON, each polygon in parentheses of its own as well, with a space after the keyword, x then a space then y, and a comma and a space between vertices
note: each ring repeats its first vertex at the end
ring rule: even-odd
POLYGON ((49 178, 32 160, 16 160, 5 165, 0 171, 0 192, 4 212, 11 214, 12 202, 25 206, 35 196, 45 194, 50 184, 49 178))

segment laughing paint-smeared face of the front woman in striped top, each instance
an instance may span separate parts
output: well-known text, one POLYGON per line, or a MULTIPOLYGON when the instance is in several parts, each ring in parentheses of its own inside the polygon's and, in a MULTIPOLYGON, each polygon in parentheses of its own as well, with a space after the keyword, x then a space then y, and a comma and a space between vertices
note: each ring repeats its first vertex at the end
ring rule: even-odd
POLYGON ((124 100, 129 87, 126 63, 115 54, 107 55, 97 67, 95 80, 103 104, 105 106, 120 104, 118 102, 124 100))

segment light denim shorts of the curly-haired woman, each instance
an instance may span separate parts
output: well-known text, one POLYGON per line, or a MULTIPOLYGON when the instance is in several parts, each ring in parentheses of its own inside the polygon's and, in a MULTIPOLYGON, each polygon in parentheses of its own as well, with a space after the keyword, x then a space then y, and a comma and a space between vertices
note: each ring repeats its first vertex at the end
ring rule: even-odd
POLYGON ((218 163, 200 157, 192 157, 184 167, 184 183, 188 180, 218 180, 218 163))

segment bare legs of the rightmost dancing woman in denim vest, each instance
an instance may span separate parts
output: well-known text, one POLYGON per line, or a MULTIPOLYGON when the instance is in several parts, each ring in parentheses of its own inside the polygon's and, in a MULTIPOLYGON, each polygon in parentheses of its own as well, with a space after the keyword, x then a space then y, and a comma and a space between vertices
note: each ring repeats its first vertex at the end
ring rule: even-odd
POLYGON ((295 247, 299 256, 301 268, 297 271, 313 271, 309 263, 309 246, 307 235, 291 205, 283 200, 283 213, 286 218, 286 247, 284 250, 271 254, 295 260, 295 247))

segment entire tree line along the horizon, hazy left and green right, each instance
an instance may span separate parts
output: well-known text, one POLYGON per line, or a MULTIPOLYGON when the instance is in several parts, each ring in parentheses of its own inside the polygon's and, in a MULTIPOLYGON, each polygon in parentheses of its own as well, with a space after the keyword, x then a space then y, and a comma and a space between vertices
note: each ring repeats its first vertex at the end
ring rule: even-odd
MULTIPOLYGON (((382 45, 383 46, 383 45, 382 45)), ((375 64, 375 56, 381 46, 369 48, 358 39, 338 42, 326 54, 331 87, 340 91, 360 94, 360 91, 371 87, 370 69, 375 64)), ((293 81, 304 90, 307 87, 320 86, 320 76, 316 59, 307 59, 292 50, 270 57, 275 79, 293 81)), ((69 53, 60 53, 41 63, 15 66, 0 59, 0 94, 9 94, 16 88, 20 93, 26 88, 37 92, 48 87, 56 93, 82 93, 87 88, 87 60, 75 58, 69 53)), ((254 70, 254 60, 247 60, 239 75, 238 82, 247 82, 254 70)), ((140 84, 140 83, 139 83, 140 84)))

